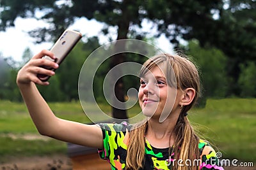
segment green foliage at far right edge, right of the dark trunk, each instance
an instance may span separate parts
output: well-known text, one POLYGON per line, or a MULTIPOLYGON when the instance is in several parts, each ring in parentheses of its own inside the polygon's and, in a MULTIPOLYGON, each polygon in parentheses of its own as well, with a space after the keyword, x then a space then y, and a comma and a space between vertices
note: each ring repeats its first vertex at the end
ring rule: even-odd
POLYGON ((241 97, 256 97, 256 65, 255 62, 248 62, 240 65, 239 87, 241 97))

